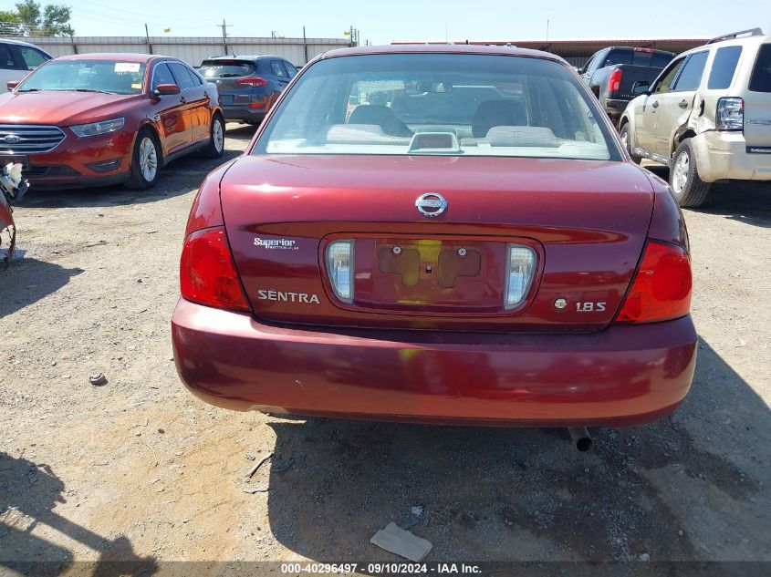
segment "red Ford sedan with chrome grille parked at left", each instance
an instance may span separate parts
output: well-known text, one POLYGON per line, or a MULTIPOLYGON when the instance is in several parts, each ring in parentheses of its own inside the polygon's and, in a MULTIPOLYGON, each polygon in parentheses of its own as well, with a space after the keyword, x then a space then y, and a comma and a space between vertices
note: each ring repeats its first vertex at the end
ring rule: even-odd
POLYGON ((183 154, 219 158, 217 88, 182 60, 80 54, 49 60, 0 95, 0 161, 35 186, 145 189, 183 154))

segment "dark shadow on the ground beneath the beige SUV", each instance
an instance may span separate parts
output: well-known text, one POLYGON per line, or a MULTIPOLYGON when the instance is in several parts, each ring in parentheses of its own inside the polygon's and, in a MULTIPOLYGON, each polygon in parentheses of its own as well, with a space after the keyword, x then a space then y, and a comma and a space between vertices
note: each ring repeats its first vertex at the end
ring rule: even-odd
MULTIPOLYGON (((653 174, 669 179, 669 169, 661 165, 645 167, 653 174)), ((732 221, 771 228, 771 182, 717 182, 707 201, 698 209, 688 211, 724 216, 732 221)))

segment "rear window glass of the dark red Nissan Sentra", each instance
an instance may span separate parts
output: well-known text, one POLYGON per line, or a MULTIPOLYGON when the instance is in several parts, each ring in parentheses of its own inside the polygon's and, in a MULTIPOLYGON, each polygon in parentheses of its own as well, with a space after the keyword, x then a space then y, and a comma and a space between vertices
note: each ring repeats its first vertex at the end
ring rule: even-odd
POLYGON ((303 73, 255 153, 619 159, 589 98, 543 58, 333 57, 303 73))

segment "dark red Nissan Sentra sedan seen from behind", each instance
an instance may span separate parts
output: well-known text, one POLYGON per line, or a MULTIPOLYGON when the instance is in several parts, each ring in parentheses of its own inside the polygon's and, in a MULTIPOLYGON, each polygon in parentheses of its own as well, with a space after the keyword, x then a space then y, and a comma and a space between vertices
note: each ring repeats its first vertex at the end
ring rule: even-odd
POLYGON ((585 427, 691 385, 682 214, 553 55, 328 52, 186 234, 174 355, 214 405, 585 427))

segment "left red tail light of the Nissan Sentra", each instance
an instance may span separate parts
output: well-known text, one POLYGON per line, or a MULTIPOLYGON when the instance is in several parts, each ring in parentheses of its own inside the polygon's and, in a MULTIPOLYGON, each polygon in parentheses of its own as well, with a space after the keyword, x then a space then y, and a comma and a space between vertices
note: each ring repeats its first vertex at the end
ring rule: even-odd
POLYGON ((185 239, 180 261, 180 288, 182 297, 194 303, 249 310, 224 227, 193 232, 185 239))

